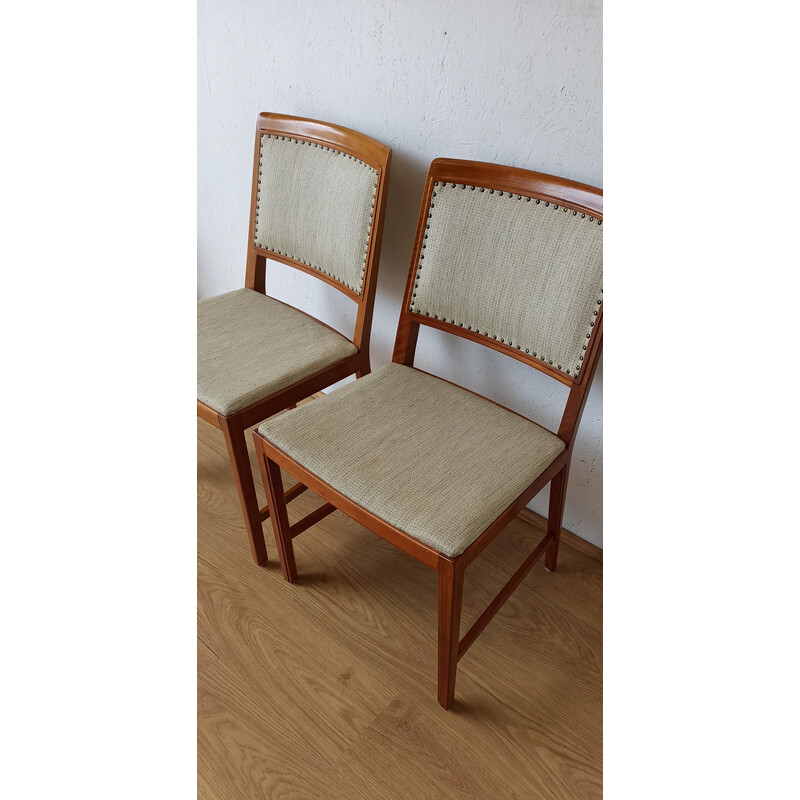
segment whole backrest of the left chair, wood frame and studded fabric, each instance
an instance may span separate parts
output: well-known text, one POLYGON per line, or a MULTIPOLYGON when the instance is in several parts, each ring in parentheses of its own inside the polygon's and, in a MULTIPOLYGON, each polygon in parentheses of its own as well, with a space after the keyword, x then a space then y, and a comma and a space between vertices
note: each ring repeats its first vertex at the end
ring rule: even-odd
POLYGON ((265 291, 267 258, 313 275, 359 304, 354 341, 368 346, 390 163, 357 131, 260 114, 245 285, 265 291))

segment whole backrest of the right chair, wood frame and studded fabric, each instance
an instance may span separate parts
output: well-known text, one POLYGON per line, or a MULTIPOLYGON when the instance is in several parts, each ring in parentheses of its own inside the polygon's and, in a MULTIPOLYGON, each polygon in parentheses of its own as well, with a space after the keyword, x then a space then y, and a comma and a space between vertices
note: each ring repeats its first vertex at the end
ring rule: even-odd
POLYGON ((567 411, 577 416, 559 432, 570 439, 602 343, 602 221, 594 187, 436 159, 394 360, 413 365, 420 325, 499 350, 576 390, 567 411))

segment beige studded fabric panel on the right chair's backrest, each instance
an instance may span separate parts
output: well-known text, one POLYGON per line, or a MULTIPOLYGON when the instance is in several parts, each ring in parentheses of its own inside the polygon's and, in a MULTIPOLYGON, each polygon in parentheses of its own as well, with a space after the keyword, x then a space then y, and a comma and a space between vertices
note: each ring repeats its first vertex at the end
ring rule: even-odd
POLYGON ((598 221, 479 186, 434 195, 410 310, 579 373, 602 299, 598 221))

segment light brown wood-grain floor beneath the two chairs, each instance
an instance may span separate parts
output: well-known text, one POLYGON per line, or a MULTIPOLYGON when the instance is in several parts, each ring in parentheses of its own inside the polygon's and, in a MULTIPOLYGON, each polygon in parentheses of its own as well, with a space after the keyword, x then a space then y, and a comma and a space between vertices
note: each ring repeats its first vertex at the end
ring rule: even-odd
MULTIPOLYGON (((252 562, 222 434, 200 420, 197 449, 202 800, 601 796, 591 548, 533 568, 459 662, 447 712, 435 571, 337 511, 295 540, 286 583, 269 523, 271 561, 252 562)), ((306 492, 290 521, 320 504, 306 492)), ((467 569, 462 634, 541 536, 517 519, 467 569)))

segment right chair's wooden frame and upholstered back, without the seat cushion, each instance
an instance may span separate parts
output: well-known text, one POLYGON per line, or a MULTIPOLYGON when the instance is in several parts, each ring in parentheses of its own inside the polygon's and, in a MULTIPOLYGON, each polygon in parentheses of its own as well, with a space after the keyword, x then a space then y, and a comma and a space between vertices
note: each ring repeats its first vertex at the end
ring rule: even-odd
POLYGON ((427 325, 569 387, 557 432, 564 450, 460 555, 444 555, 396 528, 254 434, 270 507, 277 509, 272 523, 287 580, 297 578, 292 539, 308 525, 289 527, 280 467, 326 501, 316 519, 338 508, 438 572, 438 700, 445 709, 454 702, 456 664, 480 632, 542 555, 550 571, 556 568, 575 434, 602 351, 602 221, 603 193, 592 186, 496 164, 431 164, 392 360, 414 368, 419 328, 427 325), (459 638, 466 567, 548 483, 546 535, 459 638))

